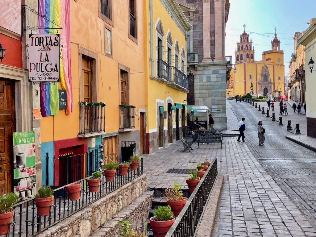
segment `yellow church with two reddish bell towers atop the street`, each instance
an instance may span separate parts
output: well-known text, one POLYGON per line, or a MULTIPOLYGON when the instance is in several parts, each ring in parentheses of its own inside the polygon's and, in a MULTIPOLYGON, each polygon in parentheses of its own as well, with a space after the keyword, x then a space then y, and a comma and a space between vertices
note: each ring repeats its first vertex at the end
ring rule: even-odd
POLYGON ((285 93, 283 50, 276 33, 271 41, 271 50, 262 52, 262 60, 255 61, 252 39, 245 31, 235 50, 235 65, 227 82, 228 97, 244 95, 279 97, 285 93), (251 88, 252 86, 252 88, 251 88))

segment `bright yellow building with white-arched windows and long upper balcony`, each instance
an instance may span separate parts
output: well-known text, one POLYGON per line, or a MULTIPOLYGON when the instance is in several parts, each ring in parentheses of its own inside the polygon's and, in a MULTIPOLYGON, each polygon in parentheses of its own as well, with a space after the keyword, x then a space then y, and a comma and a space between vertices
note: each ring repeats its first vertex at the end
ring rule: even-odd
POLYGON ((176 0, 149 0, 146 83, 147 153, 185 134, 186 35, 192 26, 176 0))

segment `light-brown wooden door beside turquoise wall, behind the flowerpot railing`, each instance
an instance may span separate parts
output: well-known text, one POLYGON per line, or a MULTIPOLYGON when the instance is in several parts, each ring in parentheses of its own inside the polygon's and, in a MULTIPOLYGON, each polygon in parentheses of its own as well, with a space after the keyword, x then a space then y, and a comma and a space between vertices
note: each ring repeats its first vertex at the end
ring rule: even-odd
POLYGON ((105 137, 103 138, 104 143, 104 162, 118 162, 119 158, 119 140, 118 136, 105 137))

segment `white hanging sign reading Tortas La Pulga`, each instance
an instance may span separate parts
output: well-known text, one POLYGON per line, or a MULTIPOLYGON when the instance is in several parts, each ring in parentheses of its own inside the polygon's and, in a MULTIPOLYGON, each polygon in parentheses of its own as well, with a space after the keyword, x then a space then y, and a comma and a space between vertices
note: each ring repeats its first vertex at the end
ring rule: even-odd
POLYGON ((30 34, 29 82, 59 82, 59 34, 30 34))

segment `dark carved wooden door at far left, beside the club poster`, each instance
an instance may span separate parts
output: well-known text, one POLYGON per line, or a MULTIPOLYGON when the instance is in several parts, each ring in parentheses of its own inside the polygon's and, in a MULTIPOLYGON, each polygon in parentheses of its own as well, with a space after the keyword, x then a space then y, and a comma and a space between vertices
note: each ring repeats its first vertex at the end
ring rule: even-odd
POLYGON ((12 133, 15 132, 14 86, 14 82, 0 79, 0 195, 12 191, 12 133))

